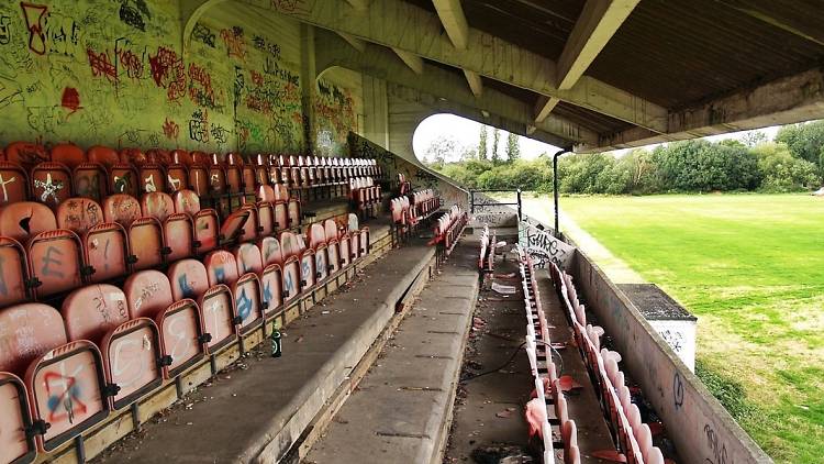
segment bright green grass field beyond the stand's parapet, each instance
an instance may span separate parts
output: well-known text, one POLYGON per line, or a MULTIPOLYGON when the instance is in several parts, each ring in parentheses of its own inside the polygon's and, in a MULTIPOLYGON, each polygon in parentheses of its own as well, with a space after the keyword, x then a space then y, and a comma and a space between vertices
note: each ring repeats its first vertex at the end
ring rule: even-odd
POLYGON ((824 199, 578 197, 560 205, 699 317, 699 375, 776 462, 824 462, 824 199))

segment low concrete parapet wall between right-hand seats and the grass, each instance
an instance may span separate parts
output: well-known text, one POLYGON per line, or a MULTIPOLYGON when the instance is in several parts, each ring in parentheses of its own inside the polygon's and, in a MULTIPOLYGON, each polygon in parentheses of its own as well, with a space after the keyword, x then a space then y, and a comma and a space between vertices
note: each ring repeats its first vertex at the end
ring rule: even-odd
POLYGON ((612 336, 623 364, 664 421, 683 463, 770 463, 701 380, 679 360, 637 308, 576 250, 578 295, 612 336))

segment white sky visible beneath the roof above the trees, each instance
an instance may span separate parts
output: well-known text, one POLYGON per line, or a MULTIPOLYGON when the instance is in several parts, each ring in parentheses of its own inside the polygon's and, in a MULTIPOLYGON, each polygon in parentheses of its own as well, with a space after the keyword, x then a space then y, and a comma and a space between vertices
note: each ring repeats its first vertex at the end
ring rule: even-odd
MULTIPOLYGON (((457 117, 455 114, 435 114, 426 118, 421 125, 417 126, 417 130, 415 130, 415 134, 412 139, 412 145, 415 150, 415 154, 419 158, 423 158, 423 154, 426 152, 426 148, 432 144, 433 141, 435 141, 439 136, 449 136, 455 139, 460 145, 467 146, 467 147, 477 147, 478 146, 478 133, 480 132, 481 124, 479 122, 475 122, 461 117, 457 117)), ((779 126, 771 126, 771 128, 764 128, 759 129, 758 131, 764 132, 767 134, 767 139, 772 140, 772 137, 776 135, 776 132, 778 132, 779 126)), ((712 135, 709 137, 705 137, 710 141, 720 141, 724 139, 741 139, 745 134, 749 132, 756 132, 756 131, 743 131, 743 132, 731 132, 728 134, 722 134, 722 135, 712 135)), ((525 159, 533 159, 538 157, 543 153, 555 153, 559 148, 543 142, 538 142, 532 139, 527 137, 519 137, 521 140, 521 157, 525 159)), ((489 150, 491 150, 492 144, 492 130, 489 131, 488 134, 488 145, 490 146, 489 150)), ((506 146, 506 132, 501 131, 501 139, 499 142, 499 151, 503 157, 505 146, 506 146)), ((650 147, 655 147, 656 145, 650 145, 650 147)), ((619 150, 615 153, 616 154, 623 154, 626 152, 626 150, 619 150)), ((457 159, 447 159, 447 161, 457 161, 457 159)))

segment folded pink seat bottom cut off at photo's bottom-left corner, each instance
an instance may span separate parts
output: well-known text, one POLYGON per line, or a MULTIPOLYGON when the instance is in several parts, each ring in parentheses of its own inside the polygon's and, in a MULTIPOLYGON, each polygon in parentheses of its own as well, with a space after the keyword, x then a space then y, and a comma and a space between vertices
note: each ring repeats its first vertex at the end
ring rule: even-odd
POLYGON ((35 459, 34 439, 25 431, 32 427, 25 385, 14 374, 0 372, 0 463, 31 463, 35 459))

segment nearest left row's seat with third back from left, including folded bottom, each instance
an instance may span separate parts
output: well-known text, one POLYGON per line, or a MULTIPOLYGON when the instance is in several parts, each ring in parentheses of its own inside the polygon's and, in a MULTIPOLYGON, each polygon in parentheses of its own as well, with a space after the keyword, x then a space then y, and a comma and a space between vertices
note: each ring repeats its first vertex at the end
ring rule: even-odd
POLYGON ((174 298, 169 279, 157 270, 130 276, 123 285, 132 318, 151 318, 159 330, 159 367, 166 378, 185 371, 205 354, 200 309, 191 298, 174 298))

